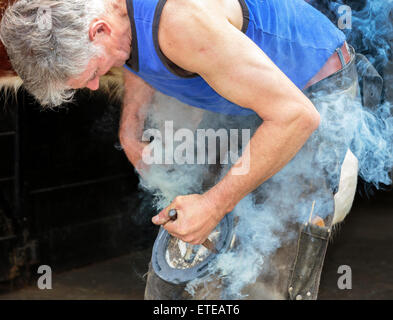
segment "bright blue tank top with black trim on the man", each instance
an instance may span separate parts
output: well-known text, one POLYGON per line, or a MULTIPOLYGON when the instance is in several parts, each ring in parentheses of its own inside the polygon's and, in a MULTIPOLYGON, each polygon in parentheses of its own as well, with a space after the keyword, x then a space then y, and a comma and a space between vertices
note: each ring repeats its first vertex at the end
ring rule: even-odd
MULTIPOLYGON (((243 11, 242 32, 299 89, 345 41, 344 34, 304 0, 238 1, 243 11)), ((253 114, 254 111, 228 101, 202 77, 180 69, 163 55, 158 45, 158 25, 165 3, 166 0, 127 0, 132 51, 125 67, 156 90, 188 105, 230 115, 253 114)))

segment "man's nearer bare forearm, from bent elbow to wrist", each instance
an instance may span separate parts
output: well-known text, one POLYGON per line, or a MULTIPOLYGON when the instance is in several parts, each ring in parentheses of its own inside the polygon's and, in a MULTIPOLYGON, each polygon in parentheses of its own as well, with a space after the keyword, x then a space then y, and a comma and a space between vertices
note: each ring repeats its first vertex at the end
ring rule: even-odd
POLYGON ((288 125, 265 121, 236 164, 206 192, 206 196, 211 203, 221 206, 219 211, 223 214, 229 213, 242 198, 280 171, 301 149, 318 124, 318 118, 310 116, 298 117, 288 125), (234 170, 247 164, 249 170, 245 174, 234 174, 234 170))

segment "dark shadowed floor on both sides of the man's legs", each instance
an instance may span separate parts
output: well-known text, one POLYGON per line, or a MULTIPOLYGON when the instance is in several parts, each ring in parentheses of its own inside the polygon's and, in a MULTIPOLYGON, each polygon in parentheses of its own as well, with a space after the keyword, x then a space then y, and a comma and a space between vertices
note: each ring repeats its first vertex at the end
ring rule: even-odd
MULTIPOLYGON (((393 299, 393 197, 357 202, 329 245, 319 299, 393 299), (339 290, 340 265, 352 290, 339 290)), ((150 250, 53 275, 53 289, 27 287, 0 299, 143 299, 150 250)))

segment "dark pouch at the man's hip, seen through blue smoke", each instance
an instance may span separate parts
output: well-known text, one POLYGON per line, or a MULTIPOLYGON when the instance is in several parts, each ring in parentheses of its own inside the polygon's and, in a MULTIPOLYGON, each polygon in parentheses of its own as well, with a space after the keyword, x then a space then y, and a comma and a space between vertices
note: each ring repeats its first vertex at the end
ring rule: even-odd
POLYGON ((360 53, 356 54, 356 68, 362 104, 366 108, 375 109, 381 101, 383 79, 370 61, 360 53))

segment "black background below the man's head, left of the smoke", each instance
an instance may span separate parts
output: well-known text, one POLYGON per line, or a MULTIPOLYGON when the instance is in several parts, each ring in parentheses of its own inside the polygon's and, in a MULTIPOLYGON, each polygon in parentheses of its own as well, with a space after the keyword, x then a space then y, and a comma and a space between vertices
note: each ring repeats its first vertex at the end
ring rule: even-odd
POLYGON ((79 92, 42 111, 23 90, 0 104, 3 289, 43 262, 62 271, 152 243, 149 195, 117 137, 119 104, 79 92))

